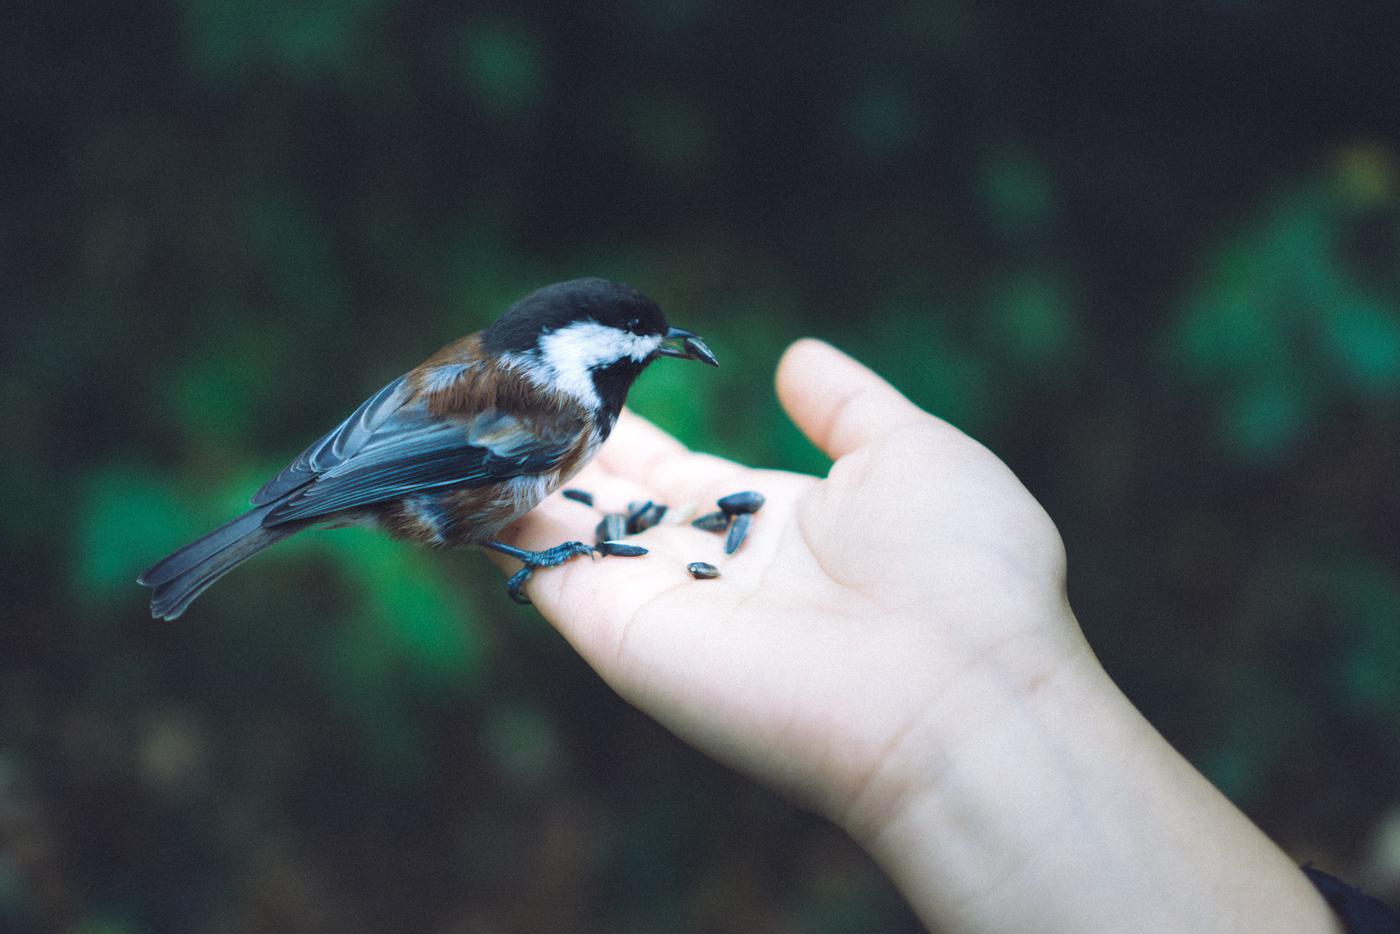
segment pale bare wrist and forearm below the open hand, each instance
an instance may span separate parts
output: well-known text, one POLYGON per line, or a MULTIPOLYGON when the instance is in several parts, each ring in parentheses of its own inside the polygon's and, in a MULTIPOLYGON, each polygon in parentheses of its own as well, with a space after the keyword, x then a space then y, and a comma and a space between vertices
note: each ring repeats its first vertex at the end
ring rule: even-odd
POLYGON ((960 732, 904 744, 888 797, 846 822, 931 927, 1336 930, 1086 647, 1044 679, 1005 672, 960 693, 960 732))

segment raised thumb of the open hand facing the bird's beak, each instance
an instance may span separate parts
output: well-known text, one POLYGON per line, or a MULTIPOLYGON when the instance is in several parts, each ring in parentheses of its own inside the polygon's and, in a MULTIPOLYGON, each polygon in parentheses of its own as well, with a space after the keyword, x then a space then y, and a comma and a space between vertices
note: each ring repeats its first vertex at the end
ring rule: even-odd
POLYGON ((832 459, 910 424, 942 424, 875 372, 822 340, 804 337, 778 361, 778 400, 832 459))

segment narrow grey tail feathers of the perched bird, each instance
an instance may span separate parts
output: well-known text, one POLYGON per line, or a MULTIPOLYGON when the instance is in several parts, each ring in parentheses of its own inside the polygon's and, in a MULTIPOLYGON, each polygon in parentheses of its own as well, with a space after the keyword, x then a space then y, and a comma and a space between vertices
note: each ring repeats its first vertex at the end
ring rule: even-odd
POLYGON ((239 515, 154 564, 136 581, 155 588, 151 616, 175 619, 220 577, 269 545, 301 531, 301 524, 263 528, 273 504, 239 515))

